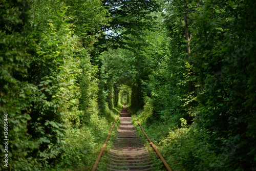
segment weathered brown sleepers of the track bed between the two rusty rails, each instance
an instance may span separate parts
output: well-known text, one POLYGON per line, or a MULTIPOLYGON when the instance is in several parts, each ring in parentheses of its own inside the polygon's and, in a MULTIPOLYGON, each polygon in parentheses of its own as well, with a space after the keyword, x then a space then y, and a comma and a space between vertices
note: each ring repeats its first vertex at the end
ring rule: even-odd
POLYGON ((108 170, 151 170, 152 159, 137 136, 126 106, 121 111, 118 135, 110 151, 108 170))

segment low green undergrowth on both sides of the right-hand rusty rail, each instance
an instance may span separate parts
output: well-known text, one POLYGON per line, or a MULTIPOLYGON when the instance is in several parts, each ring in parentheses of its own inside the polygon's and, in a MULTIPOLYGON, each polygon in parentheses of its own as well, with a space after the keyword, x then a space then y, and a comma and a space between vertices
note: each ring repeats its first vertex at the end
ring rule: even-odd
MULTIPOLYGON (((152 108, 153 106, 146 102, 143 110, 133 113, 141 123, 145 133, 151 138, 174 171, 232 170, 230 158, 232 158, 235 149, 223 147, 222 152, 217 151, 215 145, 210 145, 210 136, 215 136, 215 133, 209 134, 206 130, 199 129, 195 122, 188 125, 184 118, 180 118, 180 124, 176 125, 173 122, 162 123, 159 120, 154 120, 151 118, 153 115, 152 108), (147 122, 148 120, 151 122, 147 122)), ((132 111, 136 110, 133 109, 132 111)), ((150 152, 154 162, 154 170, 166 170, 134 118, 133 124, 136 126, 148 152, 150 152)), ((242 171, 243 169, 237 170, 242 171)))

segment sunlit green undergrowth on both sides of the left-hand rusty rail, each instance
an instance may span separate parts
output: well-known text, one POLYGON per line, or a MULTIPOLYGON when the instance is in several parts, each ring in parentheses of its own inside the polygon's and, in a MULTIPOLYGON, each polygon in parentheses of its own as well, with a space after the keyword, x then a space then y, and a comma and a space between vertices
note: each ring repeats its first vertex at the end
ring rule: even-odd
MULTIPOLYGON (((52 171, 57 170, 91 170, 99 152, 109 134, 118 109, 108 110, 108 113, 92 115, 90 124, 80 129, 71 129, 67 132, 67 139, 63 142, 61 159, 52 171), (113 119, 114 118, 114 119, 113 119), (111 120, 110 122, 108 120, 111 120)), ((100 159, 98 170, 105 170, 107 159, 113 139, 120 124, 118 118, 111 133, 111 137, 100 159)))

